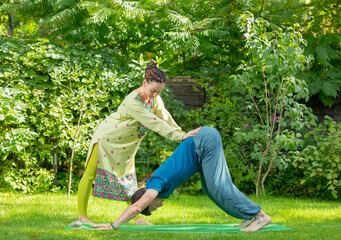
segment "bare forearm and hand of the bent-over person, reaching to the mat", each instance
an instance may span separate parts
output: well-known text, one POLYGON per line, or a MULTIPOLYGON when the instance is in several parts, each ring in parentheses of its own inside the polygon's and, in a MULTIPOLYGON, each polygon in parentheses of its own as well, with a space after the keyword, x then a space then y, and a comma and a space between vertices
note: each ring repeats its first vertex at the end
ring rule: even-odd
MULTIPOLYGON (((119 228, 123 224, 129 222, 136 217, 143 209, 149 206, 149 204, 157 197, 159 191, 154 189, 148 189, 143 196, 133 205, 129 205, 124 212, 114 222, 115 228, 119 228)), ((111 230, 113 229, 110 224, 92 225, 97 230, 111 230)))

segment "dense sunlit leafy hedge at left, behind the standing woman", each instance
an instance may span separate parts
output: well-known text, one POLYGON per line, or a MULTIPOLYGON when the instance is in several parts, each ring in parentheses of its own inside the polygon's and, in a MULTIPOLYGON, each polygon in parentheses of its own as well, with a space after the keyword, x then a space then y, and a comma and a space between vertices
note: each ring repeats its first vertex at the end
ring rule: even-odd
POLYGON ((60 138, 59 168, 67 172, 83 112, 74 171, 83 169, 91 131, 139 84, 142 67, 125 66, 123 59, 112 56, 115 49, 0 41, 0 171, 14 189, 45 191, 53 188, 50 137, 60 138), (43 176, 46 182, 41 182, 43 176))

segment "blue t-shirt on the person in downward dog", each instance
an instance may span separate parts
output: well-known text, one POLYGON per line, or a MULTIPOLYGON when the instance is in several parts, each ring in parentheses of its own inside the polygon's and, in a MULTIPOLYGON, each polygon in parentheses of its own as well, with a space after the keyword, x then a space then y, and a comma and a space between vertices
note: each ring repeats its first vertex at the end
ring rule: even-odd
POLYGON ((169 198, 174 190, 199 171, 192 137, 183 141, 146 182, 146 189, 159 191, 158 197, 169 198))

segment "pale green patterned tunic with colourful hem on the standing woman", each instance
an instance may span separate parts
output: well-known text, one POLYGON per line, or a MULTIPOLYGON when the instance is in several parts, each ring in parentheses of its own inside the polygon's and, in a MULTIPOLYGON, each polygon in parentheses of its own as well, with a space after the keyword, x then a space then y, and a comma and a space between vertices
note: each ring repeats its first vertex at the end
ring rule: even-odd
POLYGON ((87 161, 94 144, 98 143, 93 196, 118 201, 130 199, 137 190, 135 154, 149 129, 177 142, 181 142, 184 134, 160 96, 146 103, 133 91, 117 112, 97 127, 90 142, 87 161))

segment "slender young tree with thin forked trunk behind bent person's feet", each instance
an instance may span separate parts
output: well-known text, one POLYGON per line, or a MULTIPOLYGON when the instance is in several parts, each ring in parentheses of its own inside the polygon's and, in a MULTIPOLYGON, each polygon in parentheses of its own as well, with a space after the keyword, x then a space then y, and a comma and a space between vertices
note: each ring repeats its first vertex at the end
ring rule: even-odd
POLYGON ((293 29, 270 31, 266 21, 251 13, 241 15, 238 23, 245 32, 249 59, 237 69, 241 74, 232 78, 246 93, 249 114, 258 119, 250 118, 247 128, 239 129, 236 137, 251 143, 251 157, 259 161, 258 195, 260 183, 265 194, 264 183, 273 164, 280 164, 278 154, 300 146, 300 136, 294 131, 314 124, 311 110, 298 102, 308 98, 306 83, 295 77, 311 59, 303 55, 304 40, 293 29))

